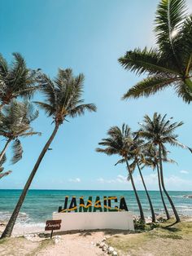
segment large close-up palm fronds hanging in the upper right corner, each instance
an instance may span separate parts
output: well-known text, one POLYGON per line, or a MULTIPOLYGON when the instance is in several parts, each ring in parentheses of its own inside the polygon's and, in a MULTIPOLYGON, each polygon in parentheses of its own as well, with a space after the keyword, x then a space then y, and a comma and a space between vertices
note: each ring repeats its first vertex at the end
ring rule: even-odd
POLYGON ((161 0, 155 18, 156 47, 127 51, 120 64, 147 77, 128 90, 123 99, 154 95, 168 86, 190 104, 192 100, 192 15, 185 0, 161 0))

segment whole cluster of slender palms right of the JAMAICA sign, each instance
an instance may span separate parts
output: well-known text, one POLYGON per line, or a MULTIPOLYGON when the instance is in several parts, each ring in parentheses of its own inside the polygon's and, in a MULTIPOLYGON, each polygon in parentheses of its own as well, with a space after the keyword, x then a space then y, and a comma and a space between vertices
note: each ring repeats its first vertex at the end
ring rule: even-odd
POLYGON ((97 152, 103 152, 107 154, 107 156, 120 156, 120 160, 117 161, 116 164, 126 164, 128 170, 128 180, 130 180, 132 183, 133 191, 140 211, 140 218, 143 223, 145 223, 145 217, 133 179, 133 171, 135 170, 136 166, 141 176, 142 184, 145 188, 149 204, 151 205, 152 222, 155 222, 155 213, 150 195, 146 189, 146 183, 142 176, 142 169, 145 166, 155 166, 157 168, 159 191, 161 193, 164 209, 167 213, 167 218, 169 219, 170 217, 164 202, 164 196, 161 191, 161 187, 163 188, 164 193, 168 197, 168 201, 172 206, 172 211, 175 215, 176 223, 180 222, 180 217, 177 214, 175 205, 173 204, 171 197, 168 195, 164 185, 163 162, 170 161, 168 160, 168 151, 165 147, 167 144, 189 149, 190 152, 192 152, 189 147, 186 147, 184 144, 178 142, 177 140, 175 130, 182 126, 182 124, 182 122, 172 122, 172 118, 167 120, 166 115, 162 117, 160 114, 155 113, 152 118, 146 115, 144 117, 143 123, 140 123, 140 129, 137 132, 131 132, 129 126, 125 124, 123 124, 121 129, 118 126, 112 126, 107 131, 107 139, 102 139, 102 142, 98 143, 104 148, 96 148, 97 152))

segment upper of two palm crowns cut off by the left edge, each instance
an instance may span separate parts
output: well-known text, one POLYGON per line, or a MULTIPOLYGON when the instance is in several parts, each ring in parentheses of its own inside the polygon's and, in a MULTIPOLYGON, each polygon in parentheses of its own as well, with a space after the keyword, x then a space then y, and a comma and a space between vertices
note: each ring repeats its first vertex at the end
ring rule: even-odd
POLYGON ((13 53, 11 65, 0 55, 0 109, 10 104, 11 99, 18 96, 29 98, 38 89, 37 71, 27 68, 24 58, 19 53, 13 53))

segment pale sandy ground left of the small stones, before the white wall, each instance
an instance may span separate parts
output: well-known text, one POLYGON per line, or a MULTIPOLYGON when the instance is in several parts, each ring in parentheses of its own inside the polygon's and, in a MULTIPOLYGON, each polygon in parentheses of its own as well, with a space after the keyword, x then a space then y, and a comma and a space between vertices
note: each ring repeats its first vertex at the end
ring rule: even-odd
MULTIPOLYGON (((5 225, 0 224, 0 232, 5 225)), ((96 246, 96 243, 103 241, 110 236, 110 232, 71 232, 55 233, 52 240, 50 238, 41 238, 37 233, 43 232, 48 236, 50 232, 44 232, 43 227, 29 227, 15 225, 12 237, 6 242, 0 244, 0 255, 39 255, 39 256, 94 256, 107 255, 102 249, 96 246), (35 232, 34 232, 35 231, 35 232), (18 237, 18 236, 23 237, 18 237), (10 246, 9 246, 10 245, 10 246)))

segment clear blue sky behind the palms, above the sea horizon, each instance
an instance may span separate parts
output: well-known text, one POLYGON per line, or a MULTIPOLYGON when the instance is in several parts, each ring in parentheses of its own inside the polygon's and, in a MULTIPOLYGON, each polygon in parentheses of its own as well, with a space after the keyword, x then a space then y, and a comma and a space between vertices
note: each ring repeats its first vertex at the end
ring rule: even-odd
MULTIPOLYGON (((33 189, 132 189, 123 165, 114 166, 118 157, 95 152, 111 126, 128 124, 138 129, 145 114, 168 114, 184 121, 177 130, 179 140, 192 146, 191 105, 177 98, 172 89, 149 98, 121 100, 122 95, 142 77, 124 70, 118 58, 137 47, 155 46, 153 33, 157 0, 2 0, 0 2, 0 52, 11 63, 13 52, 20 52, 29 68, 41 68, 51 78, 58 68, 72 68, 74 75, 84 73, 85 103, 94 103, 97 113, 69 119, 60 127, 53 150, 37 170, 33 189)), ((192 3, 186 1, 189 11, 192 3)), ((36 95, 33 100, 41 100, 36 95)), ((33 129, 41 136, 22 139, 23 159, 12 173, 1 179, 0 188, 23 188, 28 175, 54 125, 40 112, 33 129)), ((1 147, 5 139, 0 138, 1 147)), ((168 190, 192 190, 191 154, 169 148, 177 165, 164 166, 168 190)), ((11 157, 11 148, 7 158, 11 157)), ((157 190, 156 172, 143 170, 146 186, 157 190)), ((136 187, 142 183, 134 173, 136 187)))

